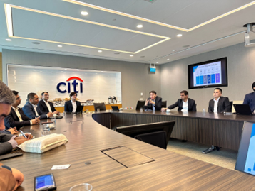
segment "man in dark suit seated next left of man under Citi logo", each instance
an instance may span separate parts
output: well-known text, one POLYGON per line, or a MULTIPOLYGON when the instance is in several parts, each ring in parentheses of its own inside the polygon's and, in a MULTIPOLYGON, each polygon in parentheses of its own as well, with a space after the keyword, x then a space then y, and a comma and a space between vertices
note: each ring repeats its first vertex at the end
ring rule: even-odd
POLYGON ((48 114, 53 113, 53 114, 57 114, 59 115, 60 112, 56 111, 56 109, 53 107, 53 103, 48 102, 49 99, 49 94, 48 92, 43 92, 42 93, 42 100, 39 102, 39 104, 37 105, 39 107, 39 109, 43 112, 48 114))

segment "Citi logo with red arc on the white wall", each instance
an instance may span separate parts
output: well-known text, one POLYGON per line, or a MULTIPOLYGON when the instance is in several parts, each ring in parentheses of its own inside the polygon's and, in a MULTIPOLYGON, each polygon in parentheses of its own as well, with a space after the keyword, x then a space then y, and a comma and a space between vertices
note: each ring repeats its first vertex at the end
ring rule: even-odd
POLYGON ((57 90, 58 92, 60 92, 61 94, 65 94, 66 92, 68 92, 68 94, 71 93, 71 85, 73 86, 73 91, 72 92, 76 92, 78 93, 78 85, 80 86, 80 93, 83 93, 83 80, 79 77, 70 77, 68 78, 68 80, 66 80, 66 82, 61 82, 57 85, 57 90), (73 83, 71 83, 70 81, 74 80, 73 83), (76 80, 79 80, 80 83, 76 82, 76 80), (67 89, 68 86, 68 89, 67 89))

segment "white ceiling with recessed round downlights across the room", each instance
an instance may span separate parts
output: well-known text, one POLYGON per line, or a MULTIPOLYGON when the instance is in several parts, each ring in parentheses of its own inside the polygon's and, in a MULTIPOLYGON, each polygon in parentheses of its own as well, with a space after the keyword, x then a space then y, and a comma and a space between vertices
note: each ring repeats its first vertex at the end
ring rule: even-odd
MULTIPOLYGON (((0 50, 6 48, 163 64, 242 43, 245 40, 243 32, 246 30, 242 26, 255 22, 255 5, 252 5, 189 32, 167 26, 188 30, 245 6, 253 2, 252 0, 157 0, 153 4, 144 0, 80 1, 165 23, 166 26, 62 0, 0 0, 0 50), (21 38, 11 38, 8 36, 6 27, 4 4, 47 13, 12 8, 14 36, 21 38), (82 16, 81 11, 87 11, 88 16, 82 16), (51 13, 56 15, 50 15, 51 13), (82 20, 74 21, 78 19, 82 20), (88 23, 88 21, 96 23, 88 23), (108 26, 103 26, 103 24, 108 26), (143 28, 137 28, 138 24, 142 24, 143 28), (178 34, 183 34, 183 37, 178 38, 178 34), (6 38, 12 41, 8 42, 6 38), (154 45, 166 38, 171 39, 154 45), (33 44, 35 41, 40 44, 33 44), (58 48, 59 44, 63 47, 58 48), (154 46, 148 48, 150 45, 154 46), (184 47, 187 45, 189 47, 184 47), (148 49, 143 50, 144 48, 148 49), (103 52, 98 53, 98 50, 103 50, 103 52), (137 51, 140 52, 135 53, 137 51), (131 54, 134 56, 130 57, 131 54)), ((255 39, 255 33, 251 35, 251 38, 255 39)))

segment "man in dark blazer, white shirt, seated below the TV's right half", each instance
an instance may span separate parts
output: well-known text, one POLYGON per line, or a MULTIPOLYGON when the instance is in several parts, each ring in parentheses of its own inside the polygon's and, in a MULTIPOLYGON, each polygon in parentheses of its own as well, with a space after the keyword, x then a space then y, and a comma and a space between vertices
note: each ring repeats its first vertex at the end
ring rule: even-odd
POLYGON ((209 102, 209 113, 223 113, 232 111, 230 99, 228 99, 228 97, 222 97, 222 93, 223 91, 220 88, 216 88, 214 90, 214 99, 211 99, 209 102))

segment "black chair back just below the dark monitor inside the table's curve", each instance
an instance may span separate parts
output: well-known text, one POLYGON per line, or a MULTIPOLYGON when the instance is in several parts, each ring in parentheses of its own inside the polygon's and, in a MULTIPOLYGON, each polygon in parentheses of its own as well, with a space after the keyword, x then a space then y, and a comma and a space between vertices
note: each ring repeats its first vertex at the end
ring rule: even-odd
POLYGON ((158 146, 163 149, 167 148, 165 131, 157 131, 153 133, 140 134, 138 136, 135 136, 134 138, 140 141, 143 141, 145 143, 149 143, 153 146, 158 146))

